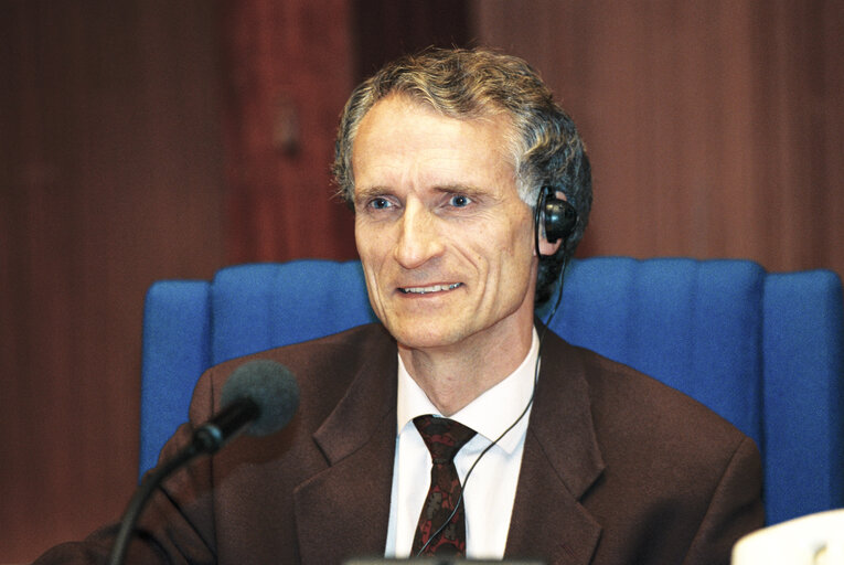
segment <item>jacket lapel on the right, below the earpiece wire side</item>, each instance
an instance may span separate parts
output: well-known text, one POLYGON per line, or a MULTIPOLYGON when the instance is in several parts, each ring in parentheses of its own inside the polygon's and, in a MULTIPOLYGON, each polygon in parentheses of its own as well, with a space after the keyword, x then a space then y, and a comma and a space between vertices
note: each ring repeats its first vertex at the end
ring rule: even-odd
POLYGON ((574 348, 548 333, 525 438, 508 556, 587 564, 600 524, 579 499, 600 477, 589 392, 574 348))

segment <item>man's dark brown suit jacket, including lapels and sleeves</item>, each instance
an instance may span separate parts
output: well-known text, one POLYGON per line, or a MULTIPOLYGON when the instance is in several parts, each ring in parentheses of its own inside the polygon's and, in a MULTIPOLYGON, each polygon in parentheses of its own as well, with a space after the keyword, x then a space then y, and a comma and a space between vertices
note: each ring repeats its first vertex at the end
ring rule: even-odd
MULTIPOLYGON (((382 555, 396 441, 396 344, 381 326, 258 355, 298 376, 288 427, 172 477, 132 563, 339 564, 382 555)), ((548 564, 727 564, 760 527, 754 443, 695 401, 548 333, 506 556, 548 564)), ((209 370, 170 457, 244 359, 209 370)), ((95 562, 115 527, 39 563, 95 562)))

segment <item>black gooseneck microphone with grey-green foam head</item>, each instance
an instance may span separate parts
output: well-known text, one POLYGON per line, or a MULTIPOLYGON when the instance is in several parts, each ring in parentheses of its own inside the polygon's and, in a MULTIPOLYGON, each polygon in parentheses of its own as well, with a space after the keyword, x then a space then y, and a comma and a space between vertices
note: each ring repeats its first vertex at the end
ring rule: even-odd
POLYGON ((221 404, 223 409, 193 433, 191 443, 148 475, 135 492, 120 520, 110 565, 124 562, 135 523, 161 481, 194 458, 217 452, 242 433, 268 436, 280 431, 299 407, 299 385, 281 363, 268 359, 249 361, 225 382, 221 404))

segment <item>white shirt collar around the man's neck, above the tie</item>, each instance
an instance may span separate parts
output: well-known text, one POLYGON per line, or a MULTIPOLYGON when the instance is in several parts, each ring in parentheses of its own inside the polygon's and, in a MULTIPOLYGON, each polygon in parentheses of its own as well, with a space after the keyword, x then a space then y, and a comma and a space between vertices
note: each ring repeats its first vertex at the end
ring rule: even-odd
MULTIPOLYGON (((525 406, 533 395, 537 361, 539 355, 539 339, 536 329, 533 330, 531 349, 527 356, 519 367, 508 375, 499 384, 473 399, 460 412, 451 416, 451 419, 469 426, 489 441, 494 441, 508 427, 510 427, 524 412, 525 406)), ((434 414, 441 416, 425 392, 419 388, 416 381, 407 372, 402 358, 398 358, 398 402, 396 411, 396 433, 403 434, 413 428, 412 420, 416 416, 434 414), (409 425, 409 428, 408 428, 409 425)), ((520 428, 526 426, 528 414, 520 422, 520 428)), ((508 451, 515 449, 522 434, 508 434, 499 441, 499 446, 508 451)))

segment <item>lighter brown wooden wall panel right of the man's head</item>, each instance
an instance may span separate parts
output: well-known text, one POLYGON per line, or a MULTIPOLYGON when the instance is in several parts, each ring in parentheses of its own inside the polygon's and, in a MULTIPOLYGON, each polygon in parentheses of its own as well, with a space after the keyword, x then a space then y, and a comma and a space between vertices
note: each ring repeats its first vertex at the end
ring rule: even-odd
POLYGON ((474 2, 595 174, 584 254, 741 257, 844 273, 840 2, 474 2))

